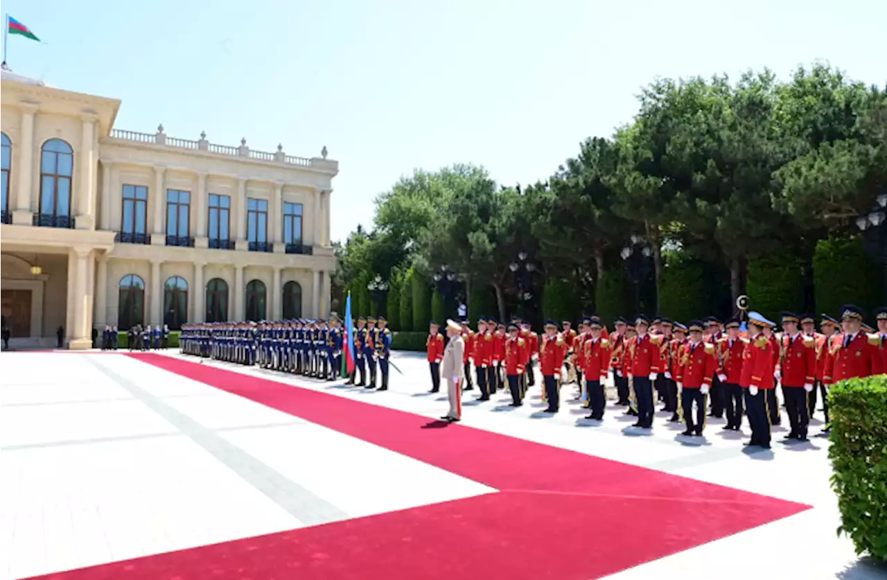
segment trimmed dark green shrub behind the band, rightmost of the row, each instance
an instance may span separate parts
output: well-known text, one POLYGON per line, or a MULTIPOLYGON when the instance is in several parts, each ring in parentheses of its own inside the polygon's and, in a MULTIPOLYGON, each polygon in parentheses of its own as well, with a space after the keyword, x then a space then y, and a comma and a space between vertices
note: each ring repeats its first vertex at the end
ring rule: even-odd
POLYGON ((850 302, 866 310, 878 306, 881 269, 866 254, 858 236, 820 239, 813 253, 816 310, 838 316, 850 302))

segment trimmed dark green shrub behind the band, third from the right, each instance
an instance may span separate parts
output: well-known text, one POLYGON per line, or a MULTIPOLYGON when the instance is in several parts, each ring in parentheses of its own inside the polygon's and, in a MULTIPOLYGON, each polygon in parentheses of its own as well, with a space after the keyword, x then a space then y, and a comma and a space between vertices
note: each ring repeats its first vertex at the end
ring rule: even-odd
POLYGON ((659 313, 687 322, 708 312, 706 272, 702 262, 683 252, 667 256, 659 278, 659 313), (703 306, 703 309, 700 309, 703 306))

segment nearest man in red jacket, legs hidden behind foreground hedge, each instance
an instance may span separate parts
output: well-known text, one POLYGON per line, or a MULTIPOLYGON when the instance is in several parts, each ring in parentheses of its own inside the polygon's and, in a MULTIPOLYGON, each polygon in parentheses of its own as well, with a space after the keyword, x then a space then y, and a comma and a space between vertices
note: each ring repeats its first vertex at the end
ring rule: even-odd
POLYGON ((862 332, 862 310, 852 304, 841 307, 843 334, 829 344, 831 357, 826 362, 822 380, 834 385, 839 380, 881 374, 881 340, 862 332))

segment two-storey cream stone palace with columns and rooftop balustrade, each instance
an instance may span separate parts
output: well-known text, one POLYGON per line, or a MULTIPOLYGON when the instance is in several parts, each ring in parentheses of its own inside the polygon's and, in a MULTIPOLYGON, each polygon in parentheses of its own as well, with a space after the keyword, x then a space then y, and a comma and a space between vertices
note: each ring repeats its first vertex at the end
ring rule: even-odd
POLYGON ((338 161, 114 129, 121 102, 0 69, 0 316, 92 329, 326 317, 338 161))

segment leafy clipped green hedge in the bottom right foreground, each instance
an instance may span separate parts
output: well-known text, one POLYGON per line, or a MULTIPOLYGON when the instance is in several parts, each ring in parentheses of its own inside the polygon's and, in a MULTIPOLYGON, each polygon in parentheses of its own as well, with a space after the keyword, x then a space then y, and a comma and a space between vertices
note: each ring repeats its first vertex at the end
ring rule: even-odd
POLYGON ((839 533, 856 553, 887 560, 887 375, 844 380, 828 394, 839 533))

